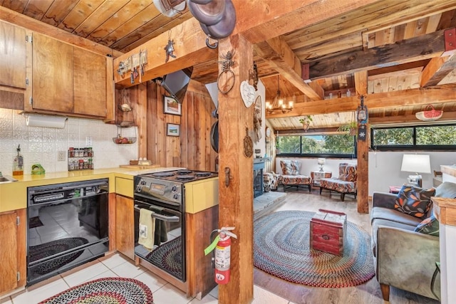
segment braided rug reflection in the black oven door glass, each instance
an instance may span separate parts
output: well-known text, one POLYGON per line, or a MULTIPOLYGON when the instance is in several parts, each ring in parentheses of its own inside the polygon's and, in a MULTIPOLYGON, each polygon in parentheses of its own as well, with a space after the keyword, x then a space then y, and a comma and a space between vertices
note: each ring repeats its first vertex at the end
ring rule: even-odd
POLYGON ((180 236, 164 243, 147 254, 145 258, 176 278, 182 278, 182 238, 180 236))

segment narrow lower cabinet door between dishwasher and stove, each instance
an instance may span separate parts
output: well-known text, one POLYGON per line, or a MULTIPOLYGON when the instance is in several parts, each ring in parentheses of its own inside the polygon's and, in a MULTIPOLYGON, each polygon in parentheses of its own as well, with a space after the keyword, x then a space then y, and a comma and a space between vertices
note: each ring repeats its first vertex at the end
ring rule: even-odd
POLYGON ((135 214, 133 199, 117 195, 115 198, 115 243, 117 250, 135 259, 135 214))

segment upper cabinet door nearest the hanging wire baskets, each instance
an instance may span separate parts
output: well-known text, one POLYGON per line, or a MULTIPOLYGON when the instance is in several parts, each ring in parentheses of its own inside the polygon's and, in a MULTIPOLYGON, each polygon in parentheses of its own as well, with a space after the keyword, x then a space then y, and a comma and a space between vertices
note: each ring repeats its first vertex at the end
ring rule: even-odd
POLYGON ((74 113, 106 117, 106 58, 74 48, 74 113))

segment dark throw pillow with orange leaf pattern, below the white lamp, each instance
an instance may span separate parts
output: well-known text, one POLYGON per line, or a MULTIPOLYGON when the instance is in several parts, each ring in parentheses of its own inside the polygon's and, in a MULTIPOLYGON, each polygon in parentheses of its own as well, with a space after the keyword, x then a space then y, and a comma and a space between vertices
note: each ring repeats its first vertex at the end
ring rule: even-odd
POLYGON ((403 185, 396 197, 394 209, 424 219, 432 202, 430 196, 434 196, 435 189, 422 189, 411 185, 403 185))

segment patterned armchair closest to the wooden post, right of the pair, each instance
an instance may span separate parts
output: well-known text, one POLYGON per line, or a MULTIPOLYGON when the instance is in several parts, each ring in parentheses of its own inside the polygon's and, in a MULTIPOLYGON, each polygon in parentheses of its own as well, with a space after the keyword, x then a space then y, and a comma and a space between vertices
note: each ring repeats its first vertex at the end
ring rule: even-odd
POLYGON ((320 179, 320 195, 322 189, 327 189, 329 190, 329 196, 331 196, 331 191, 339 192, 341 194, 341 201, 345 200, 345 194, 353 194, 356 198, 357 169, 357 164, 341 162, 339 164, 338 177, 320 179))

